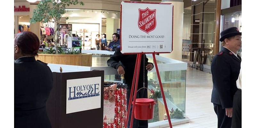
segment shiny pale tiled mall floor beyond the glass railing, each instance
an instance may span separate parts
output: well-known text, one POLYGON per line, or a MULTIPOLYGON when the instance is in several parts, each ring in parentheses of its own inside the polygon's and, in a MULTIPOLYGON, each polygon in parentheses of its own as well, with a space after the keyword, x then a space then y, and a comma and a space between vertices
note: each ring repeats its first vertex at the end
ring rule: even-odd
MULTIPOLYGON (((107 66, 108 59, 109 57, 92 57, 92 66, 107 66)), ((188 67, 186 77, 186 116, 189 123, 172 127, 216 128, 217 116, 211 103, 212 74, 188 67)))

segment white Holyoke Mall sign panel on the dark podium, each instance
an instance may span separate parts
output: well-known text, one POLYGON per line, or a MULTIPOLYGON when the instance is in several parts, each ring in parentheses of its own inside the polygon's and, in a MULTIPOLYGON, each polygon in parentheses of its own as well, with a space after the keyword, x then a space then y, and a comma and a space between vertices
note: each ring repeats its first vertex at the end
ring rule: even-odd
POLYGON ((101 77, 67 80, 66 114, 100 108, 101 77))

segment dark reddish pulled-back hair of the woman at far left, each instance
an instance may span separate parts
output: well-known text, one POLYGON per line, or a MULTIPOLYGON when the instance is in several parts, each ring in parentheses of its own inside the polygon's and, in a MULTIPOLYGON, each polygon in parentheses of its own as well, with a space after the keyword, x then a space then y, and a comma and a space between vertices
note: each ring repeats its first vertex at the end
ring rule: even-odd
POLYGON ((40 41, 33 32, 24 31, 18 33, 14 38, 14 45, 19 46, 22 54, 38 56, 40 41))

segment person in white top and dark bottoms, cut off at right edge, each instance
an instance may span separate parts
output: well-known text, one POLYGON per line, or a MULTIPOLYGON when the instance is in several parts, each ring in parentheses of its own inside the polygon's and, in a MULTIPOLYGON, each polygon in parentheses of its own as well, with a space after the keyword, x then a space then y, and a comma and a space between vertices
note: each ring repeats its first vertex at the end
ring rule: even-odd
POLYGON ((233 117, 231 128, 242 128, 242 61, 238 79, 236 80, 237 91, 233 101, 233 117))

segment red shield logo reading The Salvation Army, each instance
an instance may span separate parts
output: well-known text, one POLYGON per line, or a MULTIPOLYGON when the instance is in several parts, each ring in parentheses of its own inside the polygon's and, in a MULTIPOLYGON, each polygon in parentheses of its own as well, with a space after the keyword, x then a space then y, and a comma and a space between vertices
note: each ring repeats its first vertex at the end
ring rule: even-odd
POLYGON ((138 27, 147 34, 156 28, 156 9, 139 9, 138 27))

